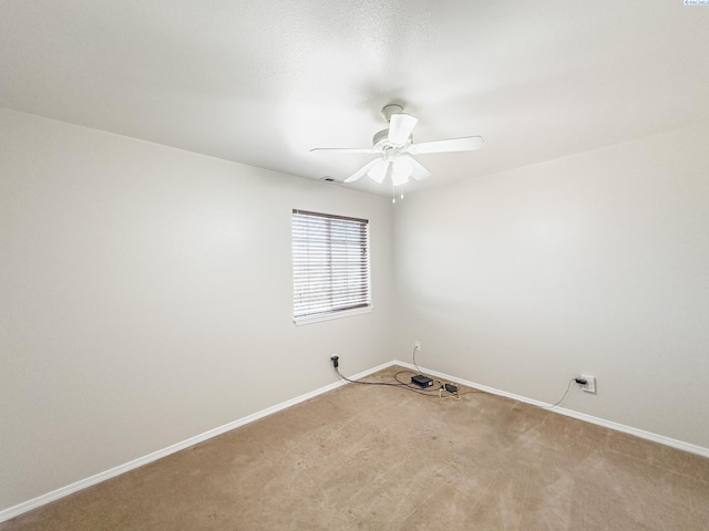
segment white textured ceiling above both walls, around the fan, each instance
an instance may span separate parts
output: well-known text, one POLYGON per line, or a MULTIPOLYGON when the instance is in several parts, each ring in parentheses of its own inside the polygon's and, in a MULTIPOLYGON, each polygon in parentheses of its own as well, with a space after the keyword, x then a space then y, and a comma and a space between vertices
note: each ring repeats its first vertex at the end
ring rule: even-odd
POLYGON ((684 0, 9 0, 0 105, 312 179, 388 103, 485 138, 414 191, 709 119, 708 51, 684 0))

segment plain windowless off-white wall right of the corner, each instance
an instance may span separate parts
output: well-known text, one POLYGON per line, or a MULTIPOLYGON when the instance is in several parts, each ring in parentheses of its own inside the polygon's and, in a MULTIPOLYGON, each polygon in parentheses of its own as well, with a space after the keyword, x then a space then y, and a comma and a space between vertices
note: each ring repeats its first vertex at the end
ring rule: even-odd
MULTIPOLYGON (((397 346, 419 365, 709 448, 709 126, 410 196, 397 346)), ((474 163, 472 163, 474 164, 474 163)))

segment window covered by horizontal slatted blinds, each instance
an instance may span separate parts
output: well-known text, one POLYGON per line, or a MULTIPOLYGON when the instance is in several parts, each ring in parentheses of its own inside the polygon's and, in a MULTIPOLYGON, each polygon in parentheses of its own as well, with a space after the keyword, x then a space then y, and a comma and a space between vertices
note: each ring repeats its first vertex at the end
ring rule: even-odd
POLYGON ((292 211, 296 324, 370 311, 369 221, 292 211))

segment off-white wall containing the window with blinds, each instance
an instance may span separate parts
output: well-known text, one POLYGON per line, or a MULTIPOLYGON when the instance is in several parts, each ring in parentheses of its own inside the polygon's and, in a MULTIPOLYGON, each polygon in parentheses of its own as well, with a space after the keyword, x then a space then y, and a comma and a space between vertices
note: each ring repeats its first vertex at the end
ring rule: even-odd
POLYGON ((391 360, 390 207, 0 110, 0 510, 391 360), (292 208, 370 220, 371 314, 292 324, 292 208))

